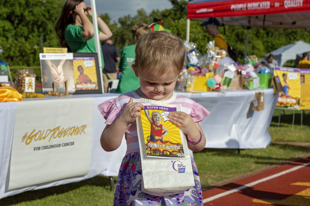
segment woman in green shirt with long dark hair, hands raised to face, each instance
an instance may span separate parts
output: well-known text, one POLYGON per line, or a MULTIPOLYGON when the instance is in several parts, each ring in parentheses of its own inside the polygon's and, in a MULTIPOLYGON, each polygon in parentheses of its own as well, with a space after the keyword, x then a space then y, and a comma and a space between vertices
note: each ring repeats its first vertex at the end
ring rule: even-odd
MULTIPOLYGON (((94 26, 87 15, 92 16, 90 6, 83 0, 67 0, 62 9, 59 20, 55 24, 55 31, 60 40, 60 46, 68 51, 77 53, 96 53, 94 26)), ((97 15, 99 40, 104 41, 112 37, 107 24, 97 15)), ((100 49, 102 68, 104 60, 100 49)))

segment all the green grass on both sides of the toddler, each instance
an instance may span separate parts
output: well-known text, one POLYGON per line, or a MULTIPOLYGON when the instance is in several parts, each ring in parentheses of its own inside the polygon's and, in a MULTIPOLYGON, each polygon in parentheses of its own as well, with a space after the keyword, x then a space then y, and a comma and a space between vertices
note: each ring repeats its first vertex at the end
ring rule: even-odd
MULTIPOLYGON (((308 114, 309 111, 306 111, 308 114)), ((291 133, 292 111, 281 115, 278 127, 276 109, 269 128, 272 141, 310 142, 310 115, 304 117, 300 127, 300 111, 295 114, 294 133, 291 133)), ((208 149, 194 153, 202 186, 246 174, 269 165, 279 164, 291 158, 310 153, 310 146, 279 145, 272 143, 266 149, 246 149, 240 154, 236 149, 208 149)), ((114 178, 116 180, 116 178, 114 178)), ((0 200, 0 205, 18 206, 69 206, 101 205, 111 206, 114 191, 110 191, 109 179, 96 176, 81 182, 27 191, 0 200)))

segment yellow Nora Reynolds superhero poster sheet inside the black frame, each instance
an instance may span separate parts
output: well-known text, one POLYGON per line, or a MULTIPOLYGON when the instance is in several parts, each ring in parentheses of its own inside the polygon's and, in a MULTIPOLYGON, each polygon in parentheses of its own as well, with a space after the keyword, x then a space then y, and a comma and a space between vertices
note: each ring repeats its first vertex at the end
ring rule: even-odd
POLYGON ((98 90, 95 57, 73 57, 75 90, 98 90))

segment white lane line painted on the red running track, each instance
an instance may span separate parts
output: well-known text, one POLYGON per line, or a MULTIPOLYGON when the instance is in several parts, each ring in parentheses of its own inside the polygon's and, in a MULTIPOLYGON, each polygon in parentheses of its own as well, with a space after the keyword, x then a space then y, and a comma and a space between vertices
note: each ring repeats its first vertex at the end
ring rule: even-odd
POLYGON ((215 199, 218 199, 218 198, 220 198, 220 197, 224 197, 224 196, 229 195, 229 194, 232 194, 232 193, 234 193, 234 192, 243 190, 243 189, 245 189, 245 188, 247 188, 247 187, 251 187, 251 186, 257 185, 257 184, 259 184, 259 183, 261 183, 261 182, 265 182, 265 181, 270 180, 270 179, 273 179, 273 178, 277 178, 277 177, 279 177, 279 176, 281 176, 281 175, 284 175, 284 174, 293 172, 293 171, 295 171, 295 170, 297 170, 297 169, 301 169, 301 168, 303 168, 303 167, 305 167, 305 166, 308 166, 308 165, 310 165, 310 162, 305 163, 305 164, 301 164, 301 165, 298 165, 298 166, 295 166, 295 167, 293 167, 293 168, 291 168, 291 169, 284 170, 284 171, 282 171, 282 172, 279 172, 279 173, 277 173, 277 174, 273 174, 273 175, 268 176, 268 177, 266 177, 266 178, 262 178, 262 179, 256 180, 256 181, 254 181, 254 182, 250 182, 249 184, 242 185, 242 186, 237 187, 237 188, 235 188, 235 189, 232 189, 232 190, 228 190, 228 191, 226 191, 226 192, 219 193, 219 194, 214 195, 214 196, 212 196, 212 197, 208 197, 208 198, 206 198, 206 199, 203 199, 203 200, 202 200, 202 203, 210 202, 210 201, 215 200, 215 199))

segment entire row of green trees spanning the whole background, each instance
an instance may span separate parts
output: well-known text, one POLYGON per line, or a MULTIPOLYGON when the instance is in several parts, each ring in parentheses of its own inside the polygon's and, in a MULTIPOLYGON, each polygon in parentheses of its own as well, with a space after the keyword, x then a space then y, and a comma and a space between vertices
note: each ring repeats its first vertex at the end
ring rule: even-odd
MULTIPOLYGON (((153 10, 149 14, 138 9, 134 16, 124 15, 111 23, 107 13, 100 17, 108 24, 113 33, 114 44, 119 51, 132 44, 131 27, 136 23, 151 24, 153 18, 163 20, 165 28, 170 29, 181 39, 186 38, 186 0, 170 0, 172 8, 162 11, 153 10)), ((64 0, 0 0, 0 46, 3 53, 0 60, 10 65, 39 65, 39 53, 43 47, 59 47, 54 25, 59 18, 64 0)), ((200 26, 201 22, 191 21, 190 41, 197 44, 197 49, 206 53, 206 44, 212 37, 200 26)), ((238 26, 220 27, 230 46, 240 54, 238 60, 243 62, 246 28, 238 26)), ((266 53, 286 44, 303 40, 310 42, 308 29, 251 28, 249 33, 248 54, 263 57, 266 53)))

